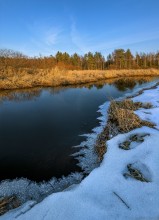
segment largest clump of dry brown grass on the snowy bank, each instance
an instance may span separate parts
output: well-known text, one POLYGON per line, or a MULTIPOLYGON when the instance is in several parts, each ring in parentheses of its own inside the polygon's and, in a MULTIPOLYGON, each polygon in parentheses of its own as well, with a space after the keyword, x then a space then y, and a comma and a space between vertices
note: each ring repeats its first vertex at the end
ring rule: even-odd
POLYGON ((133 102, 131 99, 123 101, 111 101, 108 109, 107 125, 101 134, 98 135, 95 152, 99 161, 107 151, 106 141, 118 133, 126 133, 142 126, 154 127, 155 125, 148 121, 141 120, 134 111, 139 108, 152 107, 151 103, 133 102))

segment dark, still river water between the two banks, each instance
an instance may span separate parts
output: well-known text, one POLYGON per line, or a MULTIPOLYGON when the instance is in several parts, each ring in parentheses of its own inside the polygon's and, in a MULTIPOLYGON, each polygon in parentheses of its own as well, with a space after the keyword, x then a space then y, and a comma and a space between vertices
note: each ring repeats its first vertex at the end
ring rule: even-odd
POLYGON ((0 180, 79 171, 72 146, 98 125, 98 106, 156 78, 0 92, 0 180))

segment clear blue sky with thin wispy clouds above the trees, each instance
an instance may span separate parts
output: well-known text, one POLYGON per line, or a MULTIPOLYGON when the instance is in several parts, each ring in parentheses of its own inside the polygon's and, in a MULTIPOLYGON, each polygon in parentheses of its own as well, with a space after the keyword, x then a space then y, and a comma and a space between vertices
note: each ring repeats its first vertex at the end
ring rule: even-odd
POLYGON ((30 56, 159 50, 159 0, 0 0, 0 48, 30 56))

